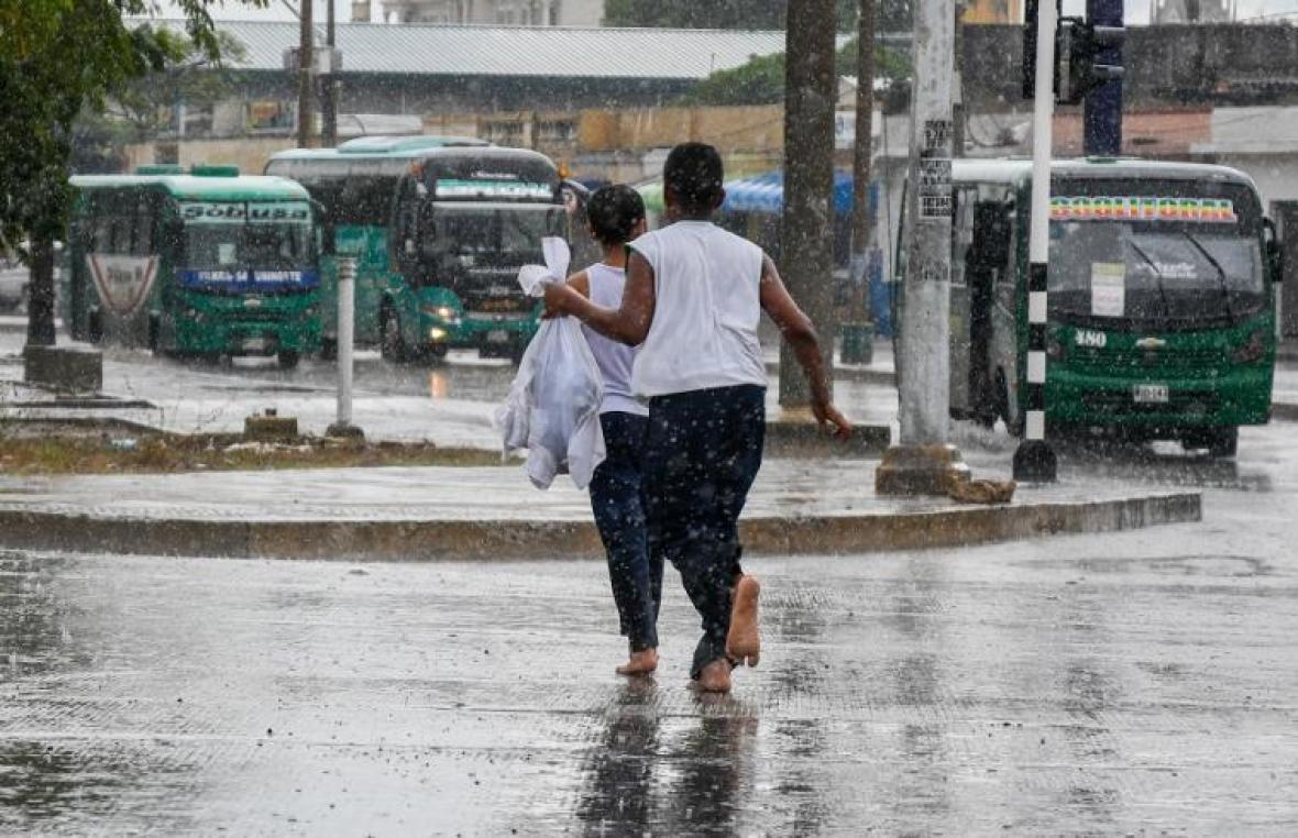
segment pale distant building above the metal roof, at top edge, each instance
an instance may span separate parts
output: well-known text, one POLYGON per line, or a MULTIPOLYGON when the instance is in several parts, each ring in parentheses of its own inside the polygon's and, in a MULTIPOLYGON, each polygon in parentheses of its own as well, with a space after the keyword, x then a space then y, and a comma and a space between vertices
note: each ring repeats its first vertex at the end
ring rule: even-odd
POLYGON ((604 22, 604 0, 379 0, 371 5, 382 6, 379 19, 388 23, 600 26, 604 22))

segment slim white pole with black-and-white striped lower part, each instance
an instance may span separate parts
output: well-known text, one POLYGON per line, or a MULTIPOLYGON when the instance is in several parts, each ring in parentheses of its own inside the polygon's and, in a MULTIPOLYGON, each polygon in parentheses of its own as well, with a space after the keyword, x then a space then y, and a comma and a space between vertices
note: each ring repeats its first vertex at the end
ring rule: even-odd
POLYGON ((1050 258, 1050 154, 1054 141, 1054 3, 1037 6, 1037 73, 1032 109, 1032 227, 1028 237, 1028 358, 1023 407, 1023 442, 1014 451, 1014 479, 1053 483, 1054 450, 1046 442, 1046 288, 1050 258))

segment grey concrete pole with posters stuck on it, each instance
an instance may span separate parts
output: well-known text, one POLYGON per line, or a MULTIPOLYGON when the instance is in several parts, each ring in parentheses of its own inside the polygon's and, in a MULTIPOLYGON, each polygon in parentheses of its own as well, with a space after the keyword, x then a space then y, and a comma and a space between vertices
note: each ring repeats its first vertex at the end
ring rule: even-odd
POLYGON ((955 16, 950 0, 915 0, 915 74, 906 192, 906 278, 900 352, 901 440, 875 472, 880 494, 946 494, 968 477, 950 423, 951 148, 955 16))

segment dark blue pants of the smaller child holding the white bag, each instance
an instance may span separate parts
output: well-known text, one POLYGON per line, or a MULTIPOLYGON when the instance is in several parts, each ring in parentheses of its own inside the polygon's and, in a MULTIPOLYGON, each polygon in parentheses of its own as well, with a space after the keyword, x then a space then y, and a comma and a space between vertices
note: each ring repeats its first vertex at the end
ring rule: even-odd
POLYGON ((649 420, 627 413, 600 416, 605 459, 591 479, 591 509, 609 557, 618 623, 632 651, 658 647, 662 558, 652 560, 641 463, 649 420))

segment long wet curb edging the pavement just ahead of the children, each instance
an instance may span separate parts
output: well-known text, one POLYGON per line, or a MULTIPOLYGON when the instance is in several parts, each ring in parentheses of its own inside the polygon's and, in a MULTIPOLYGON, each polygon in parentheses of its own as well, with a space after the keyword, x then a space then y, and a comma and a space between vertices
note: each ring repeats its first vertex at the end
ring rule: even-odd
MULTIPOLYGON (((1201 519, 1198 493, 1173 493, 928 512, 755 518, 740 521, 740 531, 748 553, 826 555, 1116 532, 1201 519)), ((10 549, 167 557, 348 562, 604 557, 589 521, 205 521, 0 510, 0 544, 10 549)))

